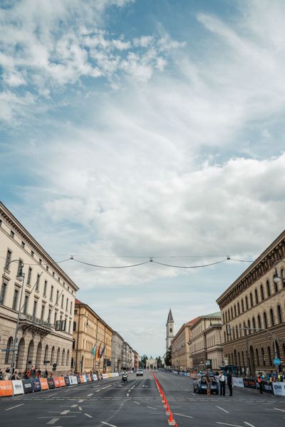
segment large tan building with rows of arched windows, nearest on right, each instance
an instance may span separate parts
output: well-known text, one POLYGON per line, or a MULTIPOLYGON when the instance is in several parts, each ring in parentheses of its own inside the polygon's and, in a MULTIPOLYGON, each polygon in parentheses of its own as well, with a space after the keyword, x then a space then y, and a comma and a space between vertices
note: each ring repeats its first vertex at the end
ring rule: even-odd
POLYGON ((284 364, 284 257, 285 231, 217 299, 226 362, 240 367, 242 373, 274 369, 274 357, 284 364))

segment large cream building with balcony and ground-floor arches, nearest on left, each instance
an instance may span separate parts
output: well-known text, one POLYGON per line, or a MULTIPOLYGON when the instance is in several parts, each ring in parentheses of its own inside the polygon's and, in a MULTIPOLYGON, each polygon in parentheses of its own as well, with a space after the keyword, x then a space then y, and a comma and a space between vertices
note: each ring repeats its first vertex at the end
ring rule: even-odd
POLYGON ((0 254, 1 369, 14 355, 19 372, 32 366, 51 371, 53 364, 57 374, 68 372, 78 287, 1 203, 0 254))

